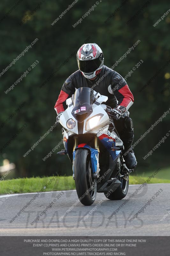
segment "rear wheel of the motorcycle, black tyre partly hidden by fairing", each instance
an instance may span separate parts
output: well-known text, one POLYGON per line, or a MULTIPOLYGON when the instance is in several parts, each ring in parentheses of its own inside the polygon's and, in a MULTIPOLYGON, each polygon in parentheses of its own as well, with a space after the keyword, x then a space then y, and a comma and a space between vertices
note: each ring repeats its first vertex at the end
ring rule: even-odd
POLYGON ((124 178, 119 178, 119 180, 121 181, 121 185, 116 188, 113 193, 111 193, 109 196, 106 196, 107 192, 104 192, 108 199, 121 200, 127 195, 129 188, 129 173, 127 173, 124 178))

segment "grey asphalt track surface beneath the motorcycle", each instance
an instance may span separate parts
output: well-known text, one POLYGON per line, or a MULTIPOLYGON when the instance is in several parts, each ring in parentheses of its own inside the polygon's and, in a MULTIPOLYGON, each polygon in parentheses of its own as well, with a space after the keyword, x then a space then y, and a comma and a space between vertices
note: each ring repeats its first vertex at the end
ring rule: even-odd
POLYGON ((75 190, 41 193, 21 214, 18 212, 35 193, 0 196, 0 236, 170 236, 170 184, 148 184, 140 190, 139 187, 129 186, 128 195, 119 201, 110 201, 103 193, 97 193, 94 204, 84 206, 78 202, 62 220, 59 218, 78 199, 75 190), (136 196, 127 201, 136 189, 136 196), (47 209, 50 203, 52 207, 47 209), (144 211, 129 221, 144 206, 144 211), (40 217, 45 209, 48 211, 40 217), (116 209, 118 212, 109 220, 116 209), (37 216, 38 221, 31 225, 37 216))

